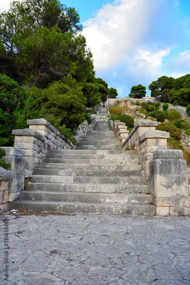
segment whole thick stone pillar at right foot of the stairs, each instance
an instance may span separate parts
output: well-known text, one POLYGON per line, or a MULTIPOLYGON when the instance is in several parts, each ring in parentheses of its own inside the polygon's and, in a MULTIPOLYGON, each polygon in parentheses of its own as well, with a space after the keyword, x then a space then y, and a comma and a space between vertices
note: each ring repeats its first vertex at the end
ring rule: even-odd
POLYGON ((188 216, 188 176, 182 150, 156 150, 149 174, 152 203, 158 216, 188 216))

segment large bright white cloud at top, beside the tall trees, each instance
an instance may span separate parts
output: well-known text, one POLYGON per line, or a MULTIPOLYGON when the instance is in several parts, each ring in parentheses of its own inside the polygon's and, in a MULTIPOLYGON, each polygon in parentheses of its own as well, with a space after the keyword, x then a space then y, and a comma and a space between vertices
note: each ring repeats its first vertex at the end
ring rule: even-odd
POLYGON ((94 68, 106 71, 123 62, 147 30, 150 0, 122 0, 105 5, 84 25, 83 34, 93 52, 94 68), (106 11, 105 11, 106 10, 106 11))

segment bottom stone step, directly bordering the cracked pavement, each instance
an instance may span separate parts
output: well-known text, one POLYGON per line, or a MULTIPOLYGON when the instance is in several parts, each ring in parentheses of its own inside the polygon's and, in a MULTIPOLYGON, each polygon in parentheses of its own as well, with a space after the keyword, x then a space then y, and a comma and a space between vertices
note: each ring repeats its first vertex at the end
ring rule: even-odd
MULTIPOLYGON (((94 214, 138 214, 155 215, 156 206, 143 203, 90 203, 63 201, 24 200, 28 210, 61 213, 94 213, 94 214)), ((9 203, 10 209, 19 209, 21 201, 9 203)))

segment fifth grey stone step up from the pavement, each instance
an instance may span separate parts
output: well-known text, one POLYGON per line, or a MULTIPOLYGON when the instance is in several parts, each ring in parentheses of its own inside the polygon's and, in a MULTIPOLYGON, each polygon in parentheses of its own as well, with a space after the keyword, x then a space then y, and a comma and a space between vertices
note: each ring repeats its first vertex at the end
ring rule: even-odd
POLYGON ((36 175, 89 176, 89 177, 144 177, 143 170, 80 170, 37 168, 36 175))

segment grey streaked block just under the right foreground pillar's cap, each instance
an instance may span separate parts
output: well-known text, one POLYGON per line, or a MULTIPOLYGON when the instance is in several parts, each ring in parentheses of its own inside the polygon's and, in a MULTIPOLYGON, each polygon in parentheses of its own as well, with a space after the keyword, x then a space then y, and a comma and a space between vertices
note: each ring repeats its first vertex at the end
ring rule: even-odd
MULTIPOLYGON (((154 156, 154 154, 153 154, 154 156)), ((186 174, 185 159, 154 159, 150 161, 150 174, 186 174)))

